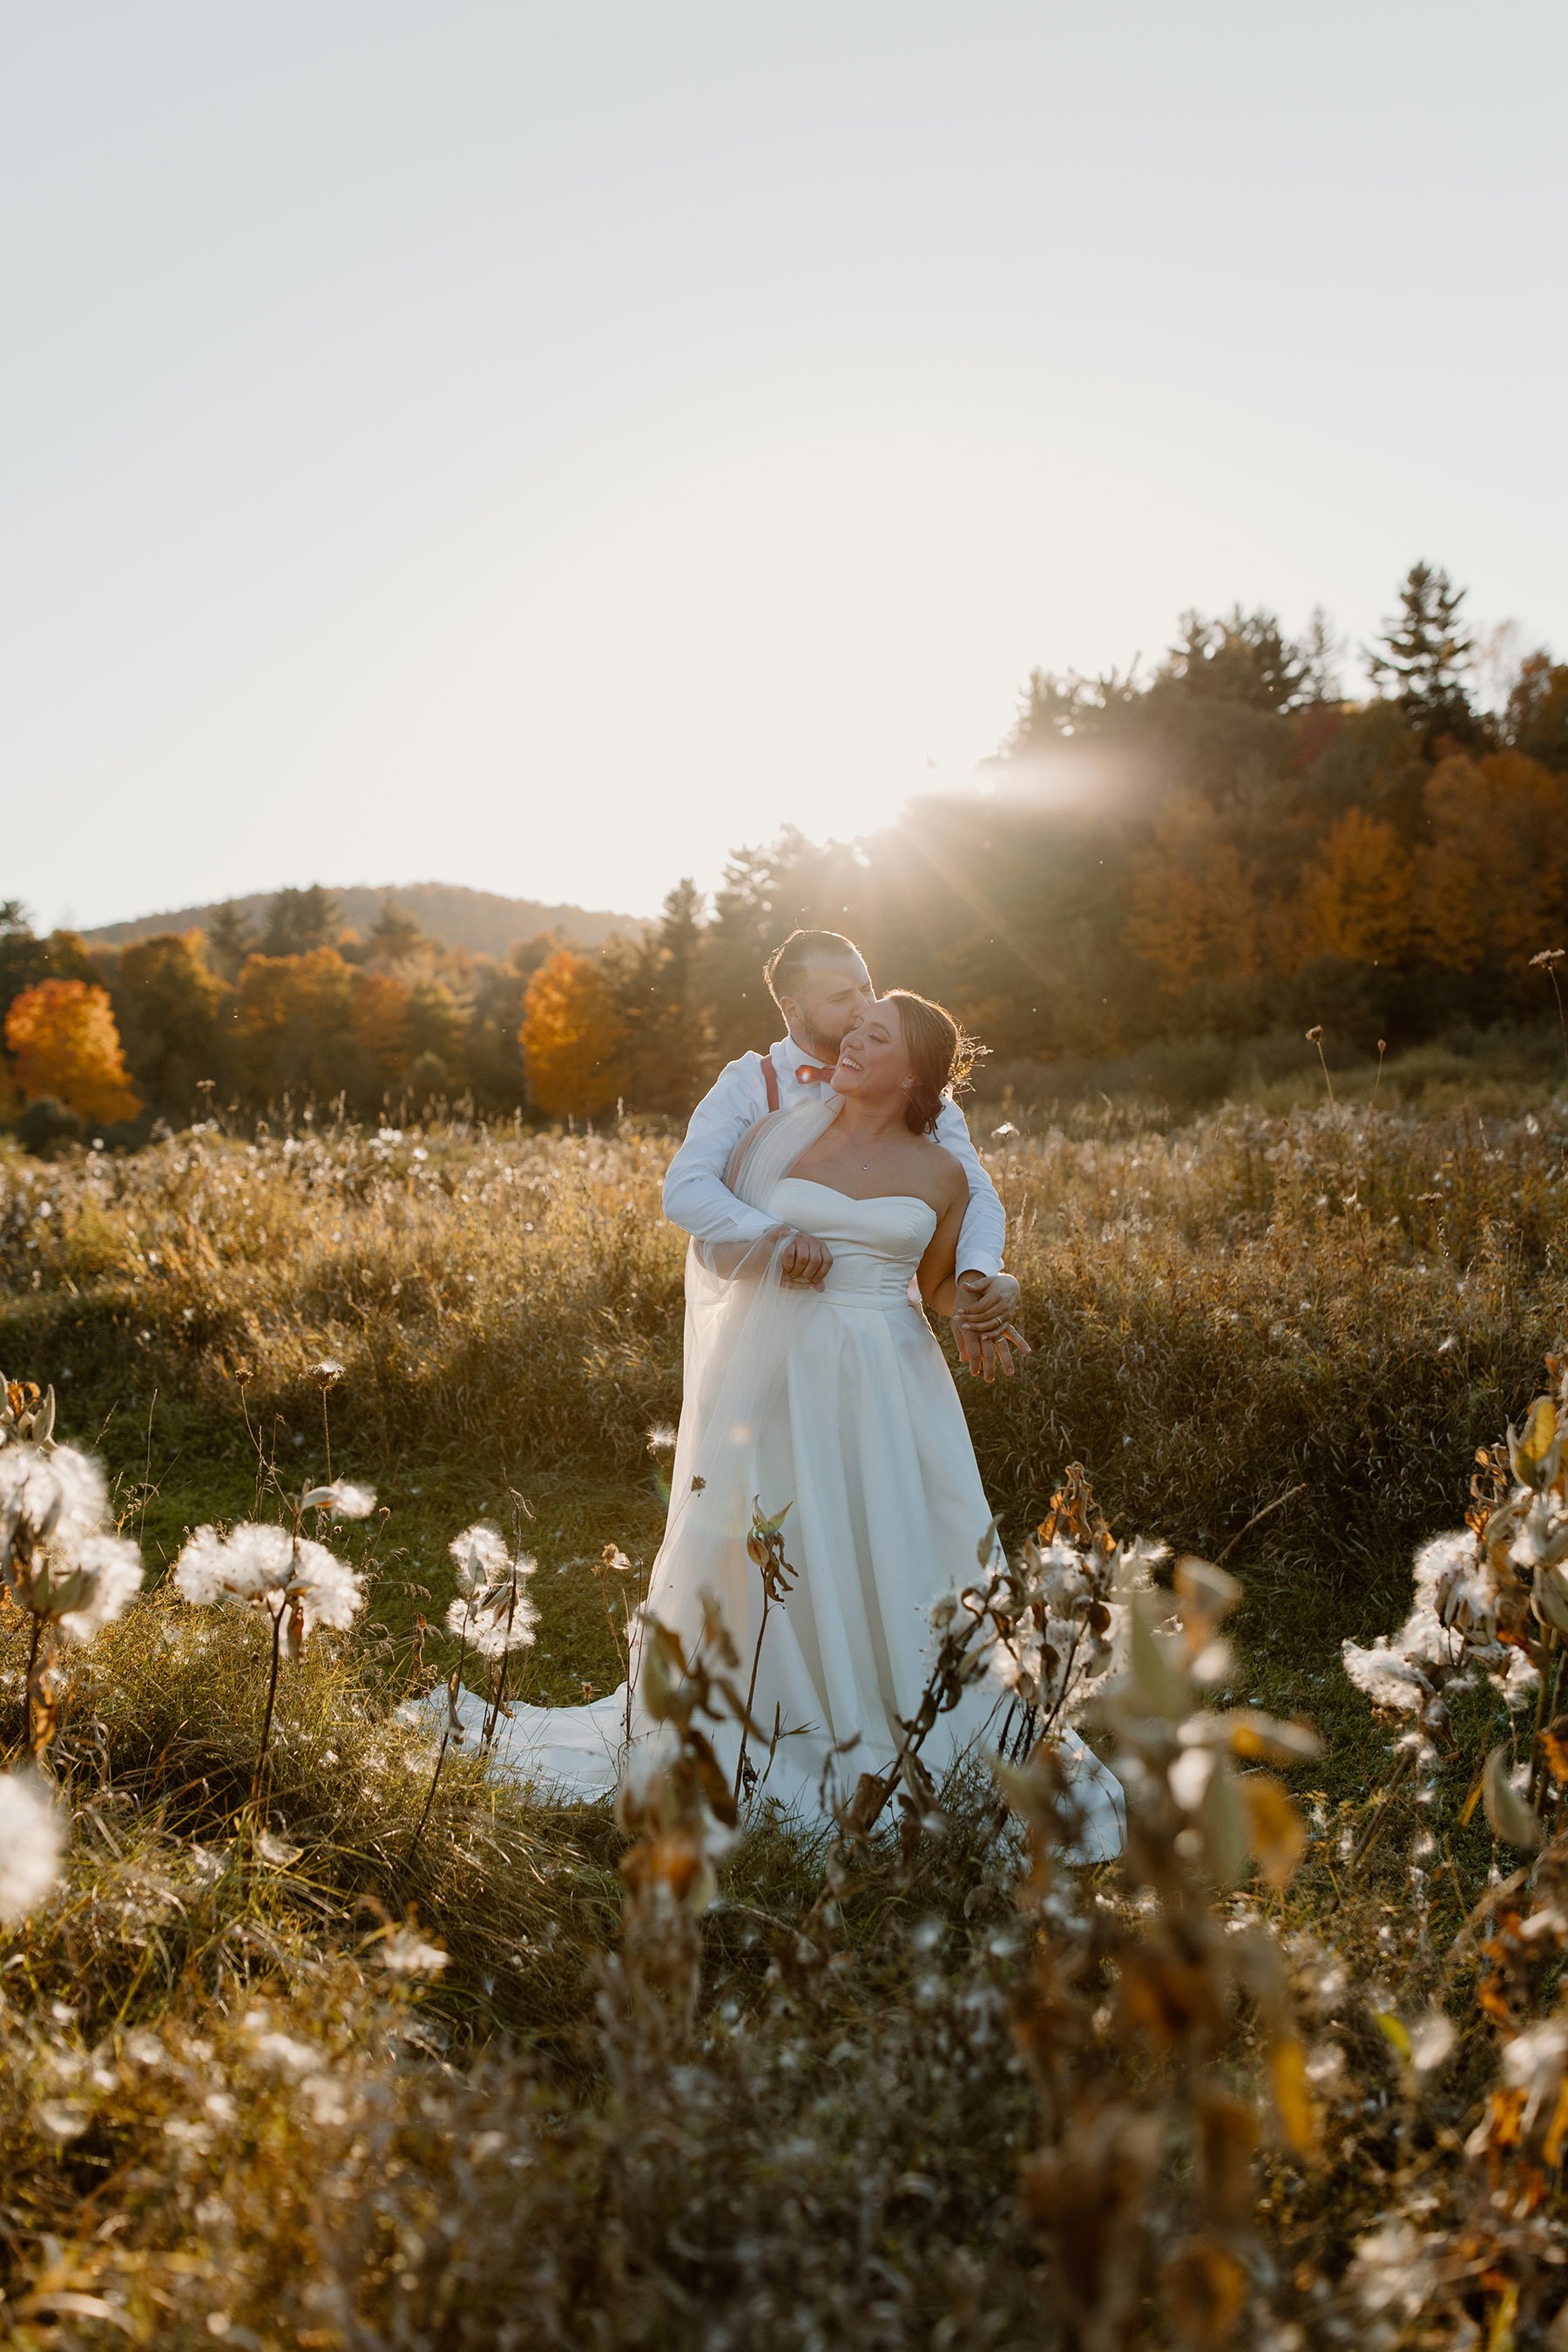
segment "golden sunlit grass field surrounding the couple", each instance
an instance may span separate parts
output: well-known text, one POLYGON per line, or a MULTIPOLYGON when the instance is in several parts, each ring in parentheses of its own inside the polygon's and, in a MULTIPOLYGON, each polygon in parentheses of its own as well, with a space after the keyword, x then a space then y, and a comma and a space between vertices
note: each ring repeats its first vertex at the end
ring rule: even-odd
MULTIPOLYGON (((515 1689, 618 1679, 592 1569, 607 1543, 651 1557, 649 1430, 679 1409, 665 1152, 630 1124, 301 1124, 0 1160, 0 1364, 56 1385, 59 1435, 103 1456, 153 1571, 71 1658, 66 1884, 0 1964, 14 2340, 1544 2343, 1554 2187, 1476 2237, 1493 2159, 1462 2152, 1523 2018, 1488 2020, 1474 1945, 1453 1952, 1514 1867, 1467 1809, 1497 1700, 1455 1703, 1453 1743, 1347 1872, 1396 1726, 1340 1644, 1406 1613, 1413 1545, 1462 1522, 1476 1446, 1568 1334, 1568 1110, 1537 1089, 1483 1115, 1157 1129, 1103 1105, 992 1136, 1034 1345, 1016 1383, 964 1388, 1001 1534, 1018 1545, 1079 1461, 1119 1531, 1225 1559, 1241 1604, 1215 1705, 1326 1740, 1286 1771, 1305 1860, 1211 1910, 1159 1877, 1037 1884, 1020 1907, 971 1788, 940 1835, 860 1853, 825 1910, 844 1858, 755 1823, 686 1943, 637 1929, 609 1816, 531 1809, 475 1759, 447 1764, 416 1842, 433 1748, 397 1712, 456 1656, 447 1543, 510 1524, 512 1496, 541 1609, 515 1689), (197 1522, 270 1517, 277 1479, 329 1468, 383 1505, 343 1536, 369 1609, 284 1672, 259 1844, 235 1823, 266 1628, 160 1573, 197 1522), (1027 1987, 1053 1936, 1100 1933, 1095 1903, 1128 1933, 1157 1903, 1178 1943, 1199 1919, 1272 1938, 1316 2154, 1305 2126, 1295 2152, 1265 2131, 1220 2194, 1218 2100, 1276 2063, 1269 2002, 1237 1994, 1201 2063, 1190 2027, 1140 2042, 1112 2016, 1131 1947, 1093 1962, 1079 2039, 1100 2056, 1051 2112, 1027 1987), (381 1964, 409 1917, 440 1973, 381 1964), (1427 2074, 1378 2016, 1434 2002, 1458 2046, 1427 2074), (1154 2079, 1175 2105, 1145 2161, 1126 2119, 1154 2112, 1154 2079), (1088 2197, 1070 2225, 1065 2147, 1088 2197), (1091 2237, 1114 2253, 1098 2286, 1074 2272, 1091 2237)), ((12 1609, 12 1750, 24 1663, 12 1609)), ((1279 2084, 1274 2105, 1291 2114, 1279 2084)))

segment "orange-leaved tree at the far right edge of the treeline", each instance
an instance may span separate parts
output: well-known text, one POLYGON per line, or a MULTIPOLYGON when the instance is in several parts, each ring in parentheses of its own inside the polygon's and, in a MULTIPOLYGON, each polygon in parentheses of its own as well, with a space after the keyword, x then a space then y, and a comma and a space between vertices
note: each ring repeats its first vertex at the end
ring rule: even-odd
POLYGON ((1443 971, 1516 976, 1568 913, 1568 776, 1516 750, 1443 760, 1427 783, 1415 891, 1420 946, 1443 971))

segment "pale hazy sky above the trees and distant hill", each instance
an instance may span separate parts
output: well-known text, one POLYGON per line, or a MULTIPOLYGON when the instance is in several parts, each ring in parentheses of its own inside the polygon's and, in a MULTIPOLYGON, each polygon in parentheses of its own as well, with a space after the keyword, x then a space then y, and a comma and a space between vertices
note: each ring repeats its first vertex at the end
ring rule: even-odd
POLYGON ((1185 604, 1568 649, 1559 0, 0 0, 0 896, 651 913, 1185 604))

